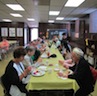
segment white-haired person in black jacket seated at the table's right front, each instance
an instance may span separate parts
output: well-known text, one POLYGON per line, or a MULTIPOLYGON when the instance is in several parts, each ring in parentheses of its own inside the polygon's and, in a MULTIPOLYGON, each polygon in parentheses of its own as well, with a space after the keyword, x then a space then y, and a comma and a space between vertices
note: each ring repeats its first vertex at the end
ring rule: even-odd
MULTIPOLYGON (((65 77, 75 79, 79 85, 79 89, 74 96, 87 96, 93 91, 93 76, 89 67, 89 63, 83 58, 83 51, 80 48, 74 48, 72 51, 72 60, 76 67, 74 73, 65 77)), ((62 74, 59 74, 62 76, 62 74)))

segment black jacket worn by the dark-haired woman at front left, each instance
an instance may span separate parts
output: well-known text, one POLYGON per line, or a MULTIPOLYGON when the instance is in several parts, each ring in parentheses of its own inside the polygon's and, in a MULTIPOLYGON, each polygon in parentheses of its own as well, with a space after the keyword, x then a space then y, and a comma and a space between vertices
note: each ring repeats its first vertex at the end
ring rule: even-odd
POLYGON ((9 93, 11 85, 16 85, 21 92, 26 93, 25 84, 20 81, 16 69, 13 67, 14 62, 11 60, 5 70, 4 75, 2 76, 2 82, 7 92, 9 93))

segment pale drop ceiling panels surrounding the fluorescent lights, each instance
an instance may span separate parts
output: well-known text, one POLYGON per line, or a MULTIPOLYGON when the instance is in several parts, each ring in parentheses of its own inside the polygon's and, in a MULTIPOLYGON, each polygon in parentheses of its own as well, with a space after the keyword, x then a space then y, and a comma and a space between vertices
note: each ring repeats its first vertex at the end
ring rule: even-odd
POLYGON ((55 23, 65 23, 97 10, 97 0, 85 0, 76 8, 64 7, 66 2, 67 0, 0 0, 0 22, 2 19, 10 19, 13 22, 25 22, 29 27, 38 27, 39 22, 54 20, 55 23), (20 4, 25 11, 13 11, 6 4, 20 4), (60 11, 60 14, 50 16, 49 11, 60 11), (23 17, 13 17, 10 13, 19 13, 23 17), (64 17, 64 20, 56 20, 57 17, 64 17), (34 18, 35 21, 28 21, 27 18, 34 18))

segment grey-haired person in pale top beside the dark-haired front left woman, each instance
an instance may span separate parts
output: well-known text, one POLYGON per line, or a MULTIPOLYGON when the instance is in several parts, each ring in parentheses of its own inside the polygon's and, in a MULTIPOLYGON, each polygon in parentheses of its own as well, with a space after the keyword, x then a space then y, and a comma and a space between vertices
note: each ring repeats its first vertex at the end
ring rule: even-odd
POLYGON ((35 49, 32 48, 31 46, 29 47, 26 47, 26 55, 24 57, 24 60, 23 60, 23 65, 25 66, 25 68, 27 68, 28 66, 31 66, 32 64, 34 64, 31 56, 34 55, 35 53, 35 49))

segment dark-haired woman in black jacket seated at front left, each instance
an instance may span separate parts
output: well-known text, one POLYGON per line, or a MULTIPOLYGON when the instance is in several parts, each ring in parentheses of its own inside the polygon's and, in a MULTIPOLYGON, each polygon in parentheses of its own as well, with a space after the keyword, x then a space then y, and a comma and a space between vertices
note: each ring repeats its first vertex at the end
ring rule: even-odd
POLYGON ((18 47, 13 52, 13 59, 8 63, 5 73, 2 76, 3 85, 6 88, 7 93, 10 95, 10 88, 12 85, 18 87, 18 89, 26 93, 28 96, 28 92, 25 88, 26 84, 23 83, 25 77, 31 71, 31 67, 24 69, 22 61, 24 60, 24 56, 26 55, 25 49, 23 47, 18 47))

